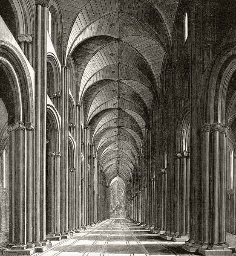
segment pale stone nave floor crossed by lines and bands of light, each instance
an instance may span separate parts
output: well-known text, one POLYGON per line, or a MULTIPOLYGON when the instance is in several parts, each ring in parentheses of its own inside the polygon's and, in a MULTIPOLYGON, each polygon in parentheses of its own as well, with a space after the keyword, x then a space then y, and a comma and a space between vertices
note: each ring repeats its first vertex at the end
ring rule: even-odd
POLYGON ((184 256, 181 242, 164 241, 126 218, 111 218, 71 239, 52 241, 38 256, 184 256))

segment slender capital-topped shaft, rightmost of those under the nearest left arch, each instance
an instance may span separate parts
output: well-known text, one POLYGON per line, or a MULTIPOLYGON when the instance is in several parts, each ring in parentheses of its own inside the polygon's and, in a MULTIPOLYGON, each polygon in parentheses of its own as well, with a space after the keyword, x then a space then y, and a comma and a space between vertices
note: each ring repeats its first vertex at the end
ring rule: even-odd
POLYGON ((26 125, 27 147, 27 183, 26 183, 26 243, 31 246, 34 243, 33 227, 33 200, 34 197, 34 130, 31 123, 26 125))

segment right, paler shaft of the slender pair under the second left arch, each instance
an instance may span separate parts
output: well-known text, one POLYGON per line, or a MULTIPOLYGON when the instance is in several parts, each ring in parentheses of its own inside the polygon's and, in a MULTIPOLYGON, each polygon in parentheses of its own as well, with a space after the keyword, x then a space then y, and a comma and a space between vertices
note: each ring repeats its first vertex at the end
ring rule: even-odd
POLYGON ((60 236, 60 152, 55 154, 55 233, 60 236))

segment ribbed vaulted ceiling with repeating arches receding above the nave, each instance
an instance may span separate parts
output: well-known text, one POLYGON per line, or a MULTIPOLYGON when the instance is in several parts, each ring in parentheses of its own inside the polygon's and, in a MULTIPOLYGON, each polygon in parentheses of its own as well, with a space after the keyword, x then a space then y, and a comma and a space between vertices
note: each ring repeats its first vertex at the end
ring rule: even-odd
POLYGON ((83 105, 84 125, 107 184, 115 177, 127 184, 136 171, 153 102, 158 102, 178 1, 82 2, 65 49, 75 63, 76 101, 83 105))

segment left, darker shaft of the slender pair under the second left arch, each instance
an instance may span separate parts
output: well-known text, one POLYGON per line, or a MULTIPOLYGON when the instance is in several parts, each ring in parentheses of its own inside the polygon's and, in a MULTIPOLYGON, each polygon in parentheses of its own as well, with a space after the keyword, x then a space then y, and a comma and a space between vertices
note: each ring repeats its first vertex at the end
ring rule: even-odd
POLYGON ((54 195, 54 159, 55 152, 48 153, 48 199, 49 204, 47 205, 48 212, 48 223, 49 223, 49 234, 55 233, 54 221, 55 221, 55 195, 54 195))

